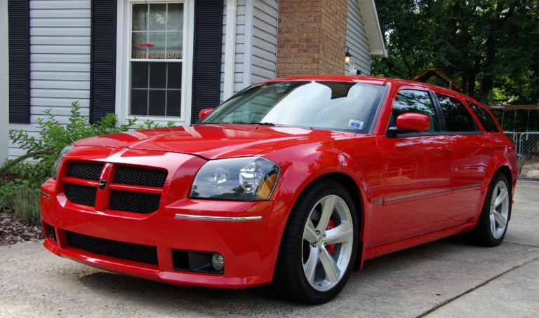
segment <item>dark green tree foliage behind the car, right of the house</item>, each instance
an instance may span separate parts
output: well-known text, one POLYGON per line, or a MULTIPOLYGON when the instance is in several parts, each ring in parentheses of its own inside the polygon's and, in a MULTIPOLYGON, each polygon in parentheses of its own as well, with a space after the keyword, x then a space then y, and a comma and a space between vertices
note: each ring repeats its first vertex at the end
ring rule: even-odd
MULTIPOLYGON (((412 78, 434 65, 484 104, 539 104, 539 1, 376 4, 389 56, 373 62, 373 75, 412 78)), ((518 117, 517 130, 526 131, 527 112, 518 117)), ((530 119, 528 130, 539 130, 539 112, 530 119)))

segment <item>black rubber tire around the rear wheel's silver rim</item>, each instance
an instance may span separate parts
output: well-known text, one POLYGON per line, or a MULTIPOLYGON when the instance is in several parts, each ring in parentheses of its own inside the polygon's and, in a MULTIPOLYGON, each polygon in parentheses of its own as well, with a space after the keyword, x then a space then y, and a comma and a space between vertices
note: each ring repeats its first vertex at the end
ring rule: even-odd
POLYGON ((512 198, 511 198, 511 187, 509 184, 509 181, 507 181, 507 177, 505 177, 505 174, 498 172, 494 175, 494 177, 491 180, 491 184, 488 186, 488 190, 486 192, 485 201, 483 202, 483 208, 481 209, 481 215, 479 216, 479 221, 477 221, 477 225, 473 230, 471 230, 468 233, 465 233, 465 237, 467 238, 468 242, 472 244, 477 244, 484 247, 495 247, 498 246, 505 237, 505 233, 507 233, 507 226, 509 225, 509 216, 511 215, 511 207, 512 207, 512 198), (501 233, 500 237, 494 237, 493 233, 491 231, 491 200, 493 195, 497 195, 497 193, 494 193, 495 186, 499 183, 503 182, 505 184, 505 187, 507 189, 507 198, 509 200, 508 202, 508 213, 507 213, 507 221, 505 222, 505 229, 503 229, 503 233, 501 233))

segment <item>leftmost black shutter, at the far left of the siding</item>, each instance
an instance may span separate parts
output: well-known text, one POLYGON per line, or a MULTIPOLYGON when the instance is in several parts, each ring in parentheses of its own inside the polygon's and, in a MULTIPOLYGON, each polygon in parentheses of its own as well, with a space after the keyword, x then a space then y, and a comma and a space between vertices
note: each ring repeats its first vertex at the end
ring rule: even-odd
POLYGON ((29 0, 8 0, 9 122, 30 122, 29 0))

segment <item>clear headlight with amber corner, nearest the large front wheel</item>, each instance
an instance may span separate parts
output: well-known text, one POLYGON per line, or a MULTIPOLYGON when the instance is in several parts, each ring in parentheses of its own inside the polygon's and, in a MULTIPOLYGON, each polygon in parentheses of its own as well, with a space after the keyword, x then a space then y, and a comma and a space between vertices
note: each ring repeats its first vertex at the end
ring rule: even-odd
POLYGON ((268 200, 281 167, 265 158, 208 161, 194 178, 191 198, 268 200))

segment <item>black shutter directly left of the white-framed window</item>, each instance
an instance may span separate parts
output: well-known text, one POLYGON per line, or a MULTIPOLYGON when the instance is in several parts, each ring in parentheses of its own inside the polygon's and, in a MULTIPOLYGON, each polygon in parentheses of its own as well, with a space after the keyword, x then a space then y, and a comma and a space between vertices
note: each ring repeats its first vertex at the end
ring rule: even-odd
POLYGON ((90 122, 115 112, 117 0, 92 0, 90 122))

